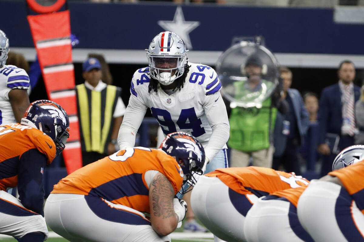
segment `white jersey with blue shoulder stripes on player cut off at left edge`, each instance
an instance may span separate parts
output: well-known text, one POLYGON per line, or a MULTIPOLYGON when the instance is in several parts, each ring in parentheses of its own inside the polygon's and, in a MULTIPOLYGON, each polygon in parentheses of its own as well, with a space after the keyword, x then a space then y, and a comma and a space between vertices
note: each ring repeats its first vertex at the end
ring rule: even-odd
POLYGON ((9 101, 12 89, 29 89, 29 77, 24 69, 13 65, 0 68, 0 124, 16 123, 9 101))

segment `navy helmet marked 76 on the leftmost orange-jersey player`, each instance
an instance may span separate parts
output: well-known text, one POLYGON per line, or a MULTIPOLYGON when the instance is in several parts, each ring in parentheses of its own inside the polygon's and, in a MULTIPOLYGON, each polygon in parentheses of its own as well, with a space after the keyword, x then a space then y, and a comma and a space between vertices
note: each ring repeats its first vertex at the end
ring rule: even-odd
POLYGON ((20 124, 37 128, 50 136, 56 145, 56 156, 63 151, 70 137, 70 121, 66 111, 50 100, 32 102, 20 124))

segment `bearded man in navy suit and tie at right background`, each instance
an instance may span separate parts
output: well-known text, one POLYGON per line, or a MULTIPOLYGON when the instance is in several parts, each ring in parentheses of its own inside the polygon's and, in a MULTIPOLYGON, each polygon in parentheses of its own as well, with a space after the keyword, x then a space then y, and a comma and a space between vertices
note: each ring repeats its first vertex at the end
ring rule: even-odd
POLYGON ((318 109, 318 152, 323 155, 321 176, 331 171, 338 151, 354 144, 354 135, 358 132, 354 103, 360 97, 360 87, 353 85, 354 63, 342 61, 337 74, 339 82, 324 88, 318 109), (337 148, 333 145, 336 137, 339 138, 337 148))

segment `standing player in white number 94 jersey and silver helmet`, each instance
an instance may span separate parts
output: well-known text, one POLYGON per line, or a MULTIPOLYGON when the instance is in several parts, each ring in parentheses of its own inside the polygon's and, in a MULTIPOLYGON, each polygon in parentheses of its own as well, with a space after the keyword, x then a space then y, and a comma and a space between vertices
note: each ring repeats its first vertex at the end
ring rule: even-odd
MULTIPOLYGON (((215 70, 189 63, 187 51, 173 32, 161 32, 153 38, 147 49, 149 67, 135 71, 132 77, 118 144, 120 149, 134 147, 135 135, 150 108, 165 135, 187 132, 202 143, 206 172, 211 172, 227 167, 229 120, 215 70)), ((187 213, 187 221, 188 217, 187 213)))

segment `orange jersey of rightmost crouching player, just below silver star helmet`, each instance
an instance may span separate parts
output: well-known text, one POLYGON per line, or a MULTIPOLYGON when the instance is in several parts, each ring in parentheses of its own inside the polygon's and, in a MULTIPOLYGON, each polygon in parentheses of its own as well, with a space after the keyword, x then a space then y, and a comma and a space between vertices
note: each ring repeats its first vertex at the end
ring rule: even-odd
POLYGON ((328 175, 336 176, 343 183, 350 195, 364 189, 364 160, 345 168, 329 172, 328 175))

